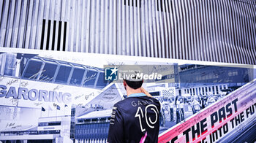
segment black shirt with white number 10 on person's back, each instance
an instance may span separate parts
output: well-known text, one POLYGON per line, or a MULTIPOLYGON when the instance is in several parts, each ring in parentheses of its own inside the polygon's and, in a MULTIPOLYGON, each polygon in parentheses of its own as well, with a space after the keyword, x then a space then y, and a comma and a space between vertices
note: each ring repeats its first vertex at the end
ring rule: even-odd
POLYGON ((144 93, 131 94, 113 107, 108 142, 158 142, 160 104, 144 93))

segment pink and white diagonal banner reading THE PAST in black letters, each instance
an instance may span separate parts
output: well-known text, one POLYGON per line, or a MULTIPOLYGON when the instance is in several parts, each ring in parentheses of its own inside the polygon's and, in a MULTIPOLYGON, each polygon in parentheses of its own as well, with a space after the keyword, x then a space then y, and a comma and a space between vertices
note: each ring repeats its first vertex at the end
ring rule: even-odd
POLYGON ((255 119, 256 80, 159 135, 159 142, 217 142, 245 120, 255 119))

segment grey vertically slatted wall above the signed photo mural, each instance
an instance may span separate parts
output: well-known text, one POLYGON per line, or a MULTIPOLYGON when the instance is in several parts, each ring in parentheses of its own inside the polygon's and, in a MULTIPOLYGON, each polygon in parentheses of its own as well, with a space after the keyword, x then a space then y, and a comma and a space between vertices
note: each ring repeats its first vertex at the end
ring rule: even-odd
POLYGON ((1 0, 0 47, 256 64, 255 0, 1 0))

